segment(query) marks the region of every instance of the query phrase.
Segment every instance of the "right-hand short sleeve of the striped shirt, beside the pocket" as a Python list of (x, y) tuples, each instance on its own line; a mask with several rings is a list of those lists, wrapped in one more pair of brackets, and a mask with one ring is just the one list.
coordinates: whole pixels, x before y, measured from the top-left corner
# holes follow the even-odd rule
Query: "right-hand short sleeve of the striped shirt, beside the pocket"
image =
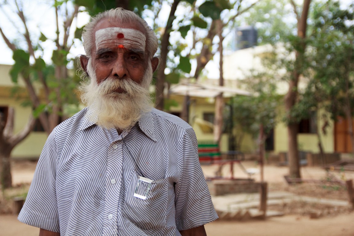
[(176, 183), (176, 225), (187, 230), (218, 218), (198, 158), (198, 143), (192, 128), (183, 137), (183, 166)]

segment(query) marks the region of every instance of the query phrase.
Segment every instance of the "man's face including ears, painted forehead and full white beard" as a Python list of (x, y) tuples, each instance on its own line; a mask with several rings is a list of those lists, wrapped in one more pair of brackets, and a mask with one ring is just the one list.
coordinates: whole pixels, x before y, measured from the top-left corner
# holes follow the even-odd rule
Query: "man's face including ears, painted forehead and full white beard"
[(151, 110), (148, 87), (159, 60), (147, 55), (143, 32), (139, 23), (103, 19), (94, 30), (90, 60), (80, 57), (90, 76), (79, 88), (81, 100), (99, 126), (124, 130)]

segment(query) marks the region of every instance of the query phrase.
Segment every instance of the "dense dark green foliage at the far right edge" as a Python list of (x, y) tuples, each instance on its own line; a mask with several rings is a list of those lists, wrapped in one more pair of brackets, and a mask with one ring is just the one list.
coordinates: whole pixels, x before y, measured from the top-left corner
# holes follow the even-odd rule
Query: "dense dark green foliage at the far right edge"
[[(330, 114), (326, 119), (346, 117), (354, 148), (353, 12), (354, 4), (343, 9), (338, 1), (317, 3), (314, 6), (309, 37), (309, 64), (313, 77), (299, 104), (306, 104), (308, 109), (324, 109)], [(326, 127), (322, 127), (324, 132)]]

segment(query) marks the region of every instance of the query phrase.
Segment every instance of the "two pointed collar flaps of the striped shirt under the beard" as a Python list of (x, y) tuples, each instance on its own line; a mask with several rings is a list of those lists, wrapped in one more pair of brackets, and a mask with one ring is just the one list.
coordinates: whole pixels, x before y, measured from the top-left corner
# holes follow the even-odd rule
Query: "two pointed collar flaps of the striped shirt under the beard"
[[(82, 123), (79, 127), (80, 131), (89, 128), (90, 126), (96, 125), (97, 116), (94, 116), (93, 119), (89, 119), (89, 116), (92, 115), (94, 111), (86, 107), (86, 113), (82, 118)], [(153, 115), (152, 111), (148, 111), (144, 113), (140, 119), (138, 120), (138, 126), (150, 139), (157, 142), (156, 134), (155, 134), (155, 119), (156, 117)]]

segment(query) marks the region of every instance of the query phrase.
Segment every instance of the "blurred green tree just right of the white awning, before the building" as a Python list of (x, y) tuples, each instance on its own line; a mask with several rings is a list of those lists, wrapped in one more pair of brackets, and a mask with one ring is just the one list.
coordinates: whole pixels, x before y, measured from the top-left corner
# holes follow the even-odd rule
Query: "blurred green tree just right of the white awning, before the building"
[[(272, 61), (271, 58), (268, 59)], [(268, 59), (263, 58), (263, 64), (267, 64)], [(269, 70), (268, 72), (252, 70), (250, 75), (241, 81), (253, 96), (238, 96), (230, 101), (234, 110), (233, 123), (237, 130), (234, 131), (238, 144), (236, 150), (240, 150), (245, 133), (256, 138), (260, 127), (263, 127), (266, 138), (275, 127), (282, 99), (277, 91), (278, 82), (278, 77), (272, 72), (269, 73)]]

